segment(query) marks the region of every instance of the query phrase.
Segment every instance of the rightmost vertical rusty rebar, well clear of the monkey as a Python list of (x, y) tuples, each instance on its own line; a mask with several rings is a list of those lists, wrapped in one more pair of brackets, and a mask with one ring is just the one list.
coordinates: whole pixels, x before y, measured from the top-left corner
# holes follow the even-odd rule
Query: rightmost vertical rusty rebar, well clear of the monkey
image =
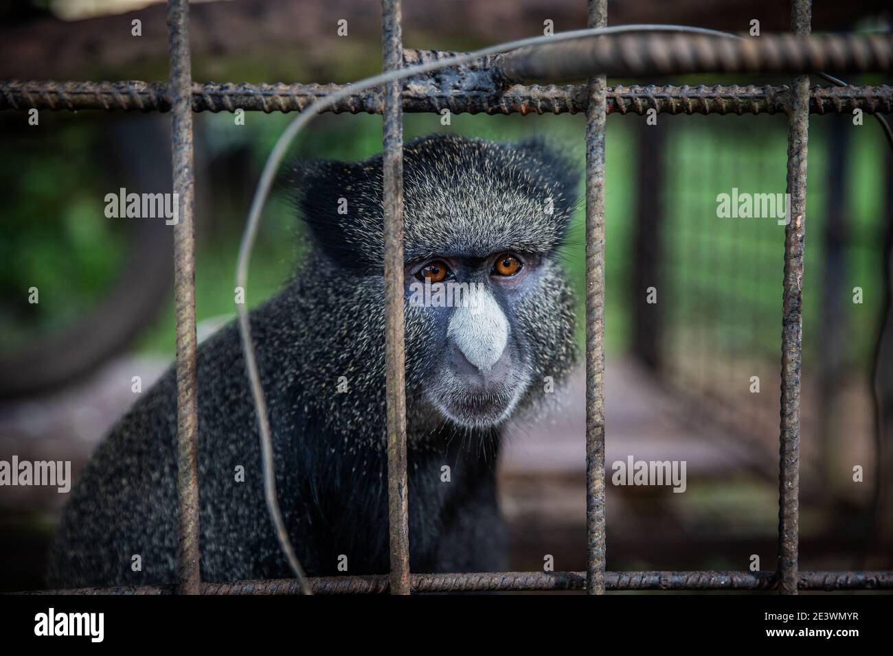
[[(791, 31), (808, 37), (810, 0), (793, 0)], [(779, 463), (779, 592), (797, 594), (800, 496), (800, 359), (803, 339), (803, 249), (806, 227), (806, 140), (809, 131), (809, 76), (790, 89), (788, 113), (788, 225), (784, 239), (784, 295), (781, 328), (781, 422)]]

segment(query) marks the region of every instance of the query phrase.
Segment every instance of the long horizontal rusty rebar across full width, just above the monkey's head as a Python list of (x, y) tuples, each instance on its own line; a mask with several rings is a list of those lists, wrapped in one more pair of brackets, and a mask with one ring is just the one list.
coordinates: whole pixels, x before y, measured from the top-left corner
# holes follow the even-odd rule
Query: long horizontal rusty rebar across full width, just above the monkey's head
[[(413, 56), (410, 56), (413, 54)], [(404, 61), (418, 63), (453, 53), (404, 51)], [(451, 76), (412, 78), (402, 92), (404, 112), (439, 113), (536, 113), (586, 112), (588, 87), (513, 85), (502, 87), (496, 69), (487, 62), (481, 68), (455, 67)], [(199, 84), (192, 85), (194, 112), (303, 112), (308, 104), (343, 89), (337, 84)], [(783, 113), (789, 107), (789, 87), (638, 86), (608, 87), (607, 113), (645, 114), (648, 109), (670, 114)], [(170, 112), (171, 96), (163, 82), (53, 82), (0, 81), (0, 111), (104, 110), (107, 112)], [(812, 87), (809, 111), (817, 114), (893, 113), (893, 87)], [(324, 112), (384, 112), (380, 93), (350, 95)]]

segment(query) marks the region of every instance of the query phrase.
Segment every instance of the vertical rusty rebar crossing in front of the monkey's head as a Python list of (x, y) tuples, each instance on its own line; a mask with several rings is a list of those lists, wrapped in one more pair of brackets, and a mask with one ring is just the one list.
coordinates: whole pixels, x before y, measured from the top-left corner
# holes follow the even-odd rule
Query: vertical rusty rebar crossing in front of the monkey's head
[[(403, 67), (400, 0), (381, 0), (384, 70)], [(385, 349), (388, 401), (388, 536), (391, 594), (409, 594), (409, 507), (406, 488), (406, 395), (403, 282), (403, 104), (402, 81), (385, 87), (382, 121)]]

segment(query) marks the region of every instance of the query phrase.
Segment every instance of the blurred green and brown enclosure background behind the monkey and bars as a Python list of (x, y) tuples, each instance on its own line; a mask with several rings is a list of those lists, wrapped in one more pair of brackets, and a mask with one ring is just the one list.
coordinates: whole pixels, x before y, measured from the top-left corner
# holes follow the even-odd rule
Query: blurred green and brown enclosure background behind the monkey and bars
[[(163, 4), (31, 0), (0, 4), (0, 79), (167, 79)], [(774, 2), (609, 3), (609, 23), (787, 30)], [(131, 21), (142, 21), (142, 37)], [(337, 37), (337, 21), (348, 37)], [(404, 0), (405, 47), (470, 50), (586, 24), (585, 0)], [(380, 70), (380, 6), (233, 0), (191, 10), (193, 79), (339, 82)], [(889, 4), (816, 2), (814, 31), (889, 29)], [(865, 76), (854, 84), (889, 80)], [(784, 84), (784, 79), (609, 79), (608, 84)], [(818, 83), (814, 79), (814, 83)], [(241, 230), (264, 159), (293, 115), (197, 113), (199, 339), (232, 319)], [(613, 114), (606, 134), (606, 465), (684, 460), (688, 489), (607, 490), (608, 569), (776, 567), (784, 228), (718, 219), (733, 187), (785, 191), (785, 115)], [(584, 162), (581, 115), (405, 115), (405, 139), (450, 131), (532, 135)], [(77, 472), (113, 421), (170, 366), (171, 230), (106, 219), (104, 195), (171, 188), (170, 116), (0, 112), (0, 460), (70, 460)], [(354, 160), (380, 151), (381, 119), (325, 114), (296, 145)], [(893, 569), (889, 145), (870, 116), (810, 117), (805, 251), (800, 569)], [(583, 187), (580, 185), (580, 193)], [(268, 205), (249, 278), (274, 294), (304, 237), (281, 192)], [(584, 342), (582, 206), (563, 251)], [(29, 288), (38, 287), (37, 304)], [(647, 303), (648, 287), (657, 303)], [(854, 287), (862, 303), (854, 303)], [(887, 326), (887, 332), (884, 327)], [(752, 392), (752, 377), (759, 392)], [(511, 569), (585, 569), (585, 383), (506, 433), (501, 504)], [(886, 463), (886, 464), (884, 464)], [(853, 468), (864, 480), (853, 480)], [(65, 501), (50, 487), (0, 487), (0, 591), (43, 585), (46, 544)]]

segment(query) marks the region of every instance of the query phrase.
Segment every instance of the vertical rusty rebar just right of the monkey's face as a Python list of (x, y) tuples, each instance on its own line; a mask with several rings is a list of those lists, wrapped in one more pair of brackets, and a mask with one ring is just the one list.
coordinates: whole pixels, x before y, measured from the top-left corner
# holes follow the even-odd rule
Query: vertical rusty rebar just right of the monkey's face
[[(607, 0), (589, 0), (588, 27), (607, 23)], [(605, 594), (605, 101), (588, 80), (586, 111), (586, 527), (588, 594)]]

